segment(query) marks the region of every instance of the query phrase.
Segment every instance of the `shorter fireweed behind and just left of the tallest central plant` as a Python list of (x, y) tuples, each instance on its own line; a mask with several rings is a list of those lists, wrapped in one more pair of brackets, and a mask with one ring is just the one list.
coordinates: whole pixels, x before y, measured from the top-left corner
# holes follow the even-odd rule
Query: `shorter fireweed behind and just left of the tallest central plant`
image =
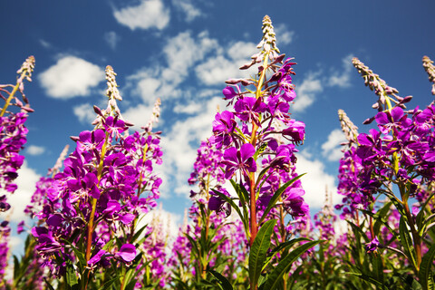
[[(220, 169), (223, 153), (208, 140), (201, 142), (198, 157), (190, 174), (189, 184), (198, 185), (190, 191), (193, 204), (189, 208), (190, 225), (185, 222), (172, 248), (169, 259), (173, 272), (173, 289), (216, 289), (209, 268), (228, 277), (232, 285), (247, 288), (244, 278), (247, 238), (240, 220), (227, 220), (225, 211), (208, 208), (211, 188), (222, 189), (224, 173)], [(215, 274), (216, 274), (215, 272)]]

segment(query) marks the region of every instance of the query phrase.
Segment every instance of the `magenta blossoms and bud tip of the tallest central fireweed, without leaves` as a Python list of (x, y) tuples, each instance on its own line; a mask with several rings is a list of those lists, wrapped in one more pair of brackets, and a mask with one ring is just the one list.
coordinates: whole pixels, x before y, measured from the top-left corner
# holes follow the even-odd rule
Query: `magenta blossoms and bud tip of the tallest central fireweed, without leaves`
[[(250, 195), (241, 202), (250, 208), (251, 244), (257, 231), (256, 211), (267, 207), (280, 181), (292, 177), (295, 144), (304, 141), (304, 123), (289, 115), (290, 102), (295, 100), (295, 63), (292, 59), (284, 61), (285, 54), (279, 54), (268, 16), (263, 20), (263, 34), (257, 46), (260, 52), (241, 67), (260, 63), (256, 77), (227, 81), (223, 94), (228, 106), (234, 105), (232, 110), (216, 114), (210, 139), (217, 149), (224, 150), (225, 179), (237, 179)], [(262, 163), (265, 169), (256, 177)], [(294, 216), (304, 215), (307, 206), (303, 194), (298, 189), (285, 189), (285, 210)]]

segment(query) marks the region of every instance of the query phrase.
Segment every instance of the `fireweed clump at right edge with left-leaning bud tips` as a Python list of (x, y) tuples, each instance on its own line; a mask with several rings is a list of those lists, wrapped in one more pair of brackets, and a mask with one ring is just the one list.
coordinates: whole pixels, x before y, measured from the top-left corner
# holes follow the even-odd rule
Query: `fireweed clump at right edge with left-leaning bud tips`
[[(429, 57), (423, 57), (430, 82), (434, 82), (431, 63)], [(395, 261), (392, 272), (400, 276), (402, 285), (432, 289), (435, 106), (432, 102), (423, 110), (405, 111), (404, 103), (410, 102), (411, 96), (398, 96), (396, 89), (358, 59), (353, 59), (353, 65), (378, 96), (372, 106), (377, 114), (364, 121), (376, 122), (377, 129), (369, 133), (358, 133), (339, 111), (348, 142), (340, 161), (338, 186), (345, 197), (336, 208), (342, 209), (342, 218), (347, 218), (356, 239), (362, 237), (366, 251), (372, 253), (372, 272), (361, 264), (353, 275), (377, 287), (388, 287), (393, 279), (388, 280), (382, 269)], [(392, 257), (385, 261), (378, 253)]]

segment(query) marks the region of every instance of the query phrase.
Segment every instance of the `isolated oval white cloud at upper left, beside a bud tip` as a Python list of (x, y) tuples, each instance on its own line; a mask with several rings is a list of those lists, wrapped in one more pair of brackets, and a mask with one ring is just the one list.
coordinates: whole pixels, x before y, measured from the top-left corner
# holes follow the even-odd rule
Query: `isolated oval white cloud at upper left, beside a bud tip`
[(72, 55), (63, 56), (39, 76), (47, 95), (57, 99), (89, 95), (103, 80), (101, 67)]

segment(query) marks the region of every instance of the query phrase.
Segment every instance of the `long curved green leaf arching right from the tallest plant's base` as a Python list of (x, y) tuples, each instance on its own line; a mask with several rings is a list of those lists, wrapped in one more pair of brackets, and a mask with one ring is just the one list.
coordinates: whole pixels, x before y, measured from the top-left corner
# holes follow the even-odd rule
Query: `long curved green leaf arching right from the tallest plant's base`
[(302, 254), (304, 254), (307, 250), (321, 242), (323, 241), (308, 242), (304, 245), (296, 247), (295, 250), (285, 256), (284, 259), (279, 261), (278, 266), (275, 267), (272, 273), (268, 275), (267, 280), (264, 284), (264, 289), (275, 290), (277, 285), (279, 285), (279, 282), (282, 279), (283, 275), (285, 275), (290, 270), (290, 266), (292, 266), (293, 262), (295, 262), (295, 260)]

